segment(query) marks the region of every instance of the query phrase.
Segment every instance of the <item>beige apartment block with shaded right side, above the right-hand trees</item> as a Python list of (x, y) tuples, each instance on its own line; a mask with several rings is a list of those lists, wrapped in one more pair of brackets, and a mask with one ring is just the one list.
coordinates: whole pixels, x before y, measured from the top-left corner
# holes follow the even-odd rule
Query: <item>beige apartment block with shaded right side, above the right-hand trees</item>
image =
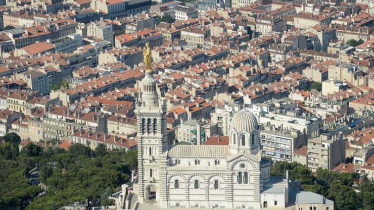
[(345, 141), (335, 136), (320, 135), (308, 139), (307, 167), (316, 172), (318, 168), (332, 170), (345, 162)]

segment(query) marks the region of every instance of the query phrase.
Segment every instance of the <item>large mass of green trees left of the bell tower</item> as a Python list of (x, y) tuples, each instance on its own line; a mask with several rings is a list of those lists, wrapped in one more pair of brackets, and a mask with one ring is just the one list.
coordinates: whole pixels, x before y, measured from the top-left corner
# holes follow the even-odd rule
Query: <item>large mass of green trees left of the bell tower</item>
[[(50, 210), (85, 199), (108, 204), (108, 195), (137, 167), (137, 151), (110, 151), (104, 145), (91, 150), (81, 144), (68, 151), (28, 144), (19, 151), (14, 136), (7, 135), (0, 144), (0, 209)], [(29, 172), (36, 169), (40, 185), (30, 181)], [(38, 196), (44, 189), (45, 194)]]

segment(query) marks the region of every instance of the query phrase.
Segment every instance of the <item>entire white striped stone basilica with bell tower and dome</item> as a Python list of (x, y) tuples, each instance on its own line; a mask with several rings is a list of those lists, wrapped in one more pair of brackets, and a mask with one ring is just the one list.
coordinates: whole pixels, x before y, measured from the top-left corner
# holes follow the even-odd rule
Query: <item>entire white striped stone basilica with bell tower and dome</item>
[[(167, 136), (165, 101), (157, 94), (152, 70), (147, 69), (142, 85), (135, 111), (139, 203), (230, 209), (285, 209), (296, 203), (290, 191), (296, 189), (299, 195), (298, 188), (288, 173), (270, 176), (271, 163), (262, 158), (254, 114), (243, 109), (232, 118), (228, 145), (175, 145)], [(296, 193), (293, 197), (302, 200)], [(321, 209), (329, 209), (318, 196)], [(305, 209), (315, 207), (308, 198), (305, 202)]]

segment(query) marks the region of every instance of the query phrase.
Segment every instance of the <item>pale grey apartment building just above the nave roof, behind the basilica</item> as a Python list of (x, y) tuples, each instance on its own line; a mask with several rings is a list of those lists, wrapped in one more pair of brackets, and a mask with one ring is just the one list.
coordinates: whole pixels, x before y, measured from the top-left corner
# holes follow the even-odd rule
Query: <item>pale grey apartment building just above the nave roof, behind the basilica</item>
[(218, 134), (215, 123), (204, 123), (198, 120), (181, 121), (177, 126), (178, 142), (184, 141), (191, 144), (202, 145), (213, 134)]

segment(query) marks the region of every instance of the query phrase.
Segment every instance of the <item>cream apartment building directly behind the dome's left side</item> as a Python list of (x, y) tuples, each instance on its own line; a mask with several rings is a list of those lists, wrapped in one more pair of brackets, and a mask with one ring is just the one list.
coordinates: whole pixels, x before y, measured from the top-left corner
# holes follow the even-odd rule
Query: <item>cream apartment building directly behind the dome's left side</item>
[(224, 104), (222, 107), (216, 107), (210, 113), (212, 123), (218, 125), (218, 134), (228, 136), (231, 128), (232, 117), (241, 110), (242, 106), (237, 104)]

